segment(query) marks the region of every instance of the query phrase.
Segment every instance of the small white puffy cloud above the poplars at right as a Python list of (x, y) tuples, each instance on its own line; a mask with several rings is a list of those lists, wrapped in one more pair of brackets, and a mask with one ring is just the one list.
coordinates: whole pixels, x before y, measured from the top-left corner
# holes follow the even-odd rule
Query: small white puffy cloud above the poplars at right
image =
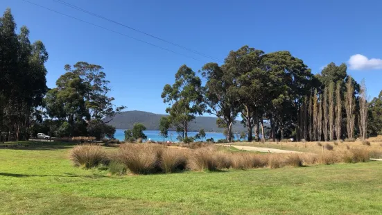
[(349, 69), (382, 69), (382, 60), (377, 58), (368, 59), (365, 55), (352, 55), (349, 59)]

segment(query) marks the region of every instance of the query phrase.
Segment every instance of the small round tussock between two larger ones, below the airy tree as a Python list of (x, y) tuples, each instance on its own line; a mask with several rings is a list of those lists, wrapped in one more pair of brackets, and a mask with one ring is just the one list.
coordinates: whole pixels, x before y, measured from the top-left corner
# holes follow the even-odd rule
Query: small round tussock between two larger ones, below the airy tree
[(187, 159), (182, 150), (167, 148), (162, 153), (160, 164), (165, 173), (175, 173), (186, 169)]

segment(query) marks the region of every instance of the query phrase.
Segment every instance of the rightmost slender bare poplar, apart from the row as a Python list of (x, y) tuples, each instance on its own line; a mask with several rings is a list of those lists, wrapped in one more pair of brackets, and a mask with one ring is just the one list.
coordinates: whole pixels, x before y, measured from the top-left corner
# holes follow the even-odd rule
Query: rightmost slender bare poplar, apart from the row
[(359, 95), (359, 130), (361, 139), (366, 139), (367, 135), (367, 89), (365, 79), (361, 81), (361, 90)]

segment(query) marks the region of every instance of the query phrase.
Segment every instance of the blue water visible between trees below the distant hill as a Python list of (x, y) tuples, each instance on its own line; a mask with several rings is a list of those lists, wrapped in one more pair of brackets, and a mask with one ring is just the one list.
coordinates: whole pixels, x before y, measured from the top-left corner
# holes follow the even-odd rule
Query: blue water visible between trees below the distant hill
[[(119, 140), (125, 139), (125, 133), (124, 129), (116, 129), (114, 137)], [(187, 134), (189, 137), (194, 137), (198, 132), (188, 132)], [(144, 134), (147, 136), (147, 139), (153, 140), (153, 141), (163, 141), (163, 137), (159, 135), (159, 130), (145, 130)], [(175, 131), (168, 131), (168, 138), (164, 139), (165, 141), (177, 141), (177, 132)], [(206, 132), (206, 137), (204, 140), (209, 138), (214, 138), (214, 141), (217, 141), (218, 139), (225, 139), (225, 136), (222, 133), (211, 133)]]

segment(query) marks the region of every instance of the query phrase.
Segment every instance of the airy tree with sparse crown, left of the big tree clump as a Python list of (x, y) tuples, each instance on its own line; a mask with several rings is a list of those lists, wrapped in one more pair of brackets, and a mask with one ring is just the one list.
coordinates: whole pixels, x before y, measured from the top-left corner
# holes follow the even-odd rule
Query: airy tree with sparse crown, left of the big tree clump
[(162, 92), (164, 103), (169, 105), (166, 112), (183, 141), (189, 141), (189, 122), (205, 110), (201, 85), (202, 81), (195, 72), (182, 65), (175, 74), (175, 83), (165, 85)]

